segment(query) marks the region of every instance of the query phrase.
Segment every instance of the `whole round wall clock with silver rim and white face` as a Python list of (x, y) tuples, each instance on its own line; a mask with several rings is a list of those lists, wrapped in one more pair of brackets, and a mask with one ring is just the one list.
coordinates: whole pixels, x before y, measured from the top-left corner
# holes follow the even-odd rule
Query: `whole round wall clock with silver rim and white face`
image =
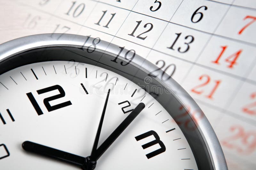
[(2, 44), (0, 101), (3, 169), (227, 169), (210, 123), (171, 75), (100, 38)]

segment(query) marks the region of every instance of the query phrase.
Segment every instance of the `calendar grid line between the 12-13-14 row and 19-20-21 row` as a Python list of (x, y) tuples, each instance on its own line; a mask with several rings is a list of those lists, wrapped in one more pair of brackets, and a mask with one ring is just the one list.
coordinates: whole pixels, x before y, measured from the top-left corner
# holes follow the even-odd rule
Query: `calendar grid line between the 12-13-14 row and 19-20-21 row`
[[(38, 11), (41, 11), (41, 10), (38, 10)], [(80, 25), (80, 26), (83, 26), (83, 27), (86, 27), (86, 28), (89, 28), (89, 29), (92, 29), (92, 30), (95, 30), (95, 31), (99, 31), (99, 32), (108, 34), (108, 35), (110, 35), (110, 36), (114, 36), (114, 35), (109, 34), (109, 33), (107, 33), (107, 32), (103, 32), (103, 31), (100, 31), (100, 30), (97, 30), (97, 29), (94, 29), (94, 28), (91, 28), (91, 27), (88, 27), (88, 26), (85, 26), (85, 25), (76, 23), (76, 22), (74, 22), (74, 21), (71, 21), (71, 20), (68, 20), (68, 19), (65, 19), (65, 18), (56, 16), (56, 15), (51, 14), (51, 13), (46, 12), (46, 11), (41, 11), (41, 12), (47, 13), (47, 14), (49, 14), (49, 15), (53, 15), (53, 16), (56, 17), (56, 18), (59, 18), (59, 19), (62, 19), (62, 20), (71, 22), (71, 23), (76, 24), (76, 25)], [(123, 40), (128, 41), (128, 42), (131, 42), (131, 43), (134, 43), (134, 44), (136, 44), (136, 45), (139, 45), (139, 46), (142, 46), (142, 47), (151, 49), (151, 48), (148, 47), (148, 46), (144, 46), (144, 45), (141, 45), (141, 44), (139, 44), (139, 43), (135, 43), (135, 42), (133, 42), (133, 41), (130, 41), (130, 40), (127, 40), (127, 39), (124, 39), (124, 38), (121, 38), (121, 37), (117, 37), (117, 36), (115, 36), (115, 37), (116, 37), (116, 38), (119, 38), (119, 39), (123, 39)], [(207, 69), (210, 69), (210, 70), (212, 70), (212, 71), (216, 71), (216, 72), (219, 72), (219, 73), (222, 73), (222, 74), (226, 74), (226, 75), (231, 76), (231, 77), (233, 77), (233, 78), (236, 78), (236, 79), (238, 79), (238, 80), (246, 81), (246, 82), (248, 82), (248, 83), (250, 83), (250, 84), (256, 85), (256, 81), (254, 81), (254, 80), (251, 80), (251, 79), (248, 79), (248, 78), (245, 78), (245, 77), (242, 77), (242, 76), (238, 76), (238, 75), (235, 75), (235, 74), (232, 74), (232, 73), (228, 73), (228, 72), (225, 72), (225, 71), (221, 71), (221, 70), (218, 70), (218, 69), (209, 67), (209, 66), (205, 66), (205, 65), (203, 65), (203, 64), (195, 63), (195, 62), (190, 61), (190, 60), (182, 59), (182, 58), (180, 58), (180, 57), (177, 57), (177, 56), (174, 56), (174, 55), (171, 55), (171, 54), (168, 54), (168, 53), (164, 53), (164, 52), (161, 52), (161, 51), (156, 50), (156, 49), (152, 49), (152, 50), (154, 50), (154, 51), (156, 51), (156, 52), (159, 52), (159, 53), (163, 53), (163, 54), (168, 55), (168, 56), (170, 56), (170, 57), (173, 57), (173, 58), (175, 58), (175, 59), (182, 60), (182, 61), (188, 62), (188, 63), (190, 63), (190, 64), (194, 64), (194, 65), (199, 66), (199, 67), (204, 67), (204, 68), (207, 68)]]

